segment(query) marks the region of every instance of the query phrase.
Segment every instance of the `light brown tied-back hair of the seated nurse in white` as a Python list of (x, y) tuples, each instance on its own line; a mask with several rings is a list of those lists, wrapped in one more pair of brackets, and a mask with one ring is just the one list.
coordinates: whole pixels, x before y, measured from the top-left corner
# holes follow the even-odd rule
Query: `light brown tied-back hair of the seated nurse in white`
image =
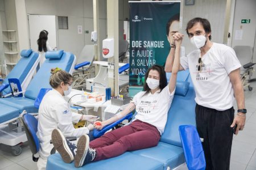
[(59, 68), (51, 69), (51, 74), (52, 75), (49, 79), (49, 84), (52, 88), (57, 88), (58, 86), (60, 86), (61, 82), (64, 82), (64, 84), (68, 84), (68, 82), (72, 79), (71, 74)]

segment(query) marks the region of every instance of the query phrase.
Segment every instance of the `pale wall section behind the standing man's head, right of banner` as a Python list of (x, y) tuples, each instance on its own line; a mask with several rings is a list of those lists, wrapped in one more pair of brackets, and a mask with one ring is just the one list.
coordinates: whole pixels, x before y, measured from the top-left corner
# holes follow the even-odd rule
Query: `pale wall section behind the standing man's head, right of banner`
[[(252, 0), (254, 1), (254, 0)], [(200, 17), (206, 18), (210, 22), (212, 28), (212, 41), (223, 43), (224, 26), (225, 26), (225, 10), (226, 0), (205, 0), (195, 1), (195, 5), (183, 6), (183, 23), (182, 31), (184, 33), (183, 45), (185, 46), (185, 53), (188, 54), (193, 49), (185, 28), (189, 20)]]

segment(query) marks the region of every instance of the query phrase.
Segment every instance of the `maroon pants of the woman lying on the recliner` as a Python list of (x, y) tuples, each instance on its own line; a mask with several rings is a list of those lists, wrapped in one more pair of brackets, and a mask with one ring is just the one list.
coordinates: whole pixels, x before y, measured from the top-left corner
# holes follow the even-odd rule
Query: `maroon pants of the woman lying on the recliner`
[(96, 150), (93, 161), (113, 158), (126, 151), (141, 150), (158, 145), (160, 134), (155, 126), (136, 120), (130, 125), (110, 131), (90, 142)]

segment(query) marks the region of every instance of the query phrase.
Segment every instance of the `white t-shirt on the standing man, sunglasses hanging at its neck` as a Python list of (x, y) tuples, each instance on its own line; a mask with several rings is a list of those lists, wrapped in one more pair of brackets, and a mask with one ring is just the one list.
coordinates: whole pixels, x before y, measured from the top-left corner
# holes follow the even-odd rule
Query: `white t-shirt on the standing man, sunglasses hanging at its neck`
[(236, 53), (223, 44), (213, 43), (201, 58), (201, 72), (197, 71), (200, 50), (180, 58), (184, 70), (189, 69), (196, 91), (196, 103), (207, 108), (224, 111), (233, 106), (234, 91), (229, 73), (241, 67)]

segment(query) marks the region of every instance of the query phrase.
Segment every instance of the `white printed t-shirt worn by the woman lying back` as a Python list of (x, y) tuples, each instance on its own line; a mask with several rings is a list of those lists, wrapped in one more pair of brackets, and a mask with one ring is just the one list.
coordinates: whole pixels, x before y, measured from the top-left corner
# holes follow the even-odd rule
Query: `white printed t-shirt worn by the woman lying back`
[(167, 113), (174, 98), (175, 90), (170, 93), (169, 86), (160, 89), (154, 94), (151, 92), (141, 91), (133, 97), (132, 103), (136, 105), (135, 120), (140, 120), (155, 126), (160, 135), (164, 131), (167, 121)]

